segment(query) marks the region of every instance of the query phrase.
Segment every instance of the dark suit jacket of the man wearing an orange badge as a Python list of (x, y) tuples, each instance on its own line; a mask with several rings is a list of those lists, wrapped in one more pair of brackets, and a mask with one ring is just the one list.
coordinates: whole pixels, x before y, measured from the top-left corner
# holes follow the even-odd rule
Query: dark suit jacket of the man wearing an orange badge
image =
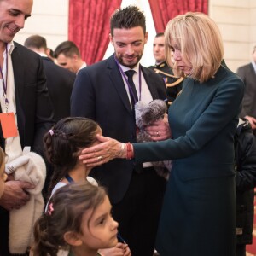
[[(44, 155), (42, 138), (53, 125), (53, 111), (46, 87), (43, 63), (38, 54), (17, 43), (11, 56), (21, 148), (31, 146), (32, 151)], [(4, 148), (2, 129), (0, 141)]]

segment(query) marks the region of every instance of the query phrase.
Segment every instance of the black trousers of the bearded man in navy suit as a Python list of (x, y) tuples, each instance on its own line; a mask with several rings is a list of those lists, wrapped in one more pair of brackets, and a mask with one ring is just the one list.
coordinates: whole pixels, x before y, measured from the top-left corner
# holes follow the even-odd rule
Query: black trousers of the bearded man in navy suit
[(143, 173), (133, 172), (124, 199), (113, 205), (113, 218), (132, 256), (153, 255), (165, 190), (166, 180), (153, 167), (144, 168)]

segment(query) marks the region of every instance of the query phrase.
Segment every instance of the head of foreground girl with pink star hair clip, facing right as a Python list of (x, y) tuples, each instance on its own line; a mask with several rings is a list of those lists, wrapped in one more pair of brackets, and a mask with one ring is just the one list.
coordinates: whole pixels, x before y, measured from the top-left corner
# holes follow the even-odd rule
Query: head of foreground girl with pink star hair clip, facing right
[(117, 244), (117, 228), (105, 189), (88, 182), (70, 183), (57, 189), (38, 218), (32, 255), (101, 255), (99, 248)]

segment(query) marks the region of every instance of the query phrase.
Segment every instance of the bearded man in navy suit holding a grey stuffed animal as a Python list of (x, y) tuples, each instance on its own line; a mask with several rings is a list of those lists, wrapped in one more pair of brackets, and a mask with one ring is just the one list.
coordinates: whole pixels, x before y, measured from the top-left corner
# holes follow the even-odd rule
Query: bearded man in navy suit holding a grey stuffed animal
[[(148, 40), (143, 13), (134, 6), (118, 9), (110, 26), (114, 54), (79, 72), (71, 96), (71, 115), (94, 119), (104, 136), (132, 143), (137, 134), (134, 102), (165, 100), (166, 86), (160, 76), (139, 64)], [(134, 73), (132, 79), (127, 72)], [(164, 120), (152, 129), (155, 140), (170, 137)], [(113, 218), (119, 222), (119, 232), (131, 254), (152, 256), (166, 180), (150, 163), (135, 166), (131, 160), (110, 161), (90, 175), (108, 188)]]

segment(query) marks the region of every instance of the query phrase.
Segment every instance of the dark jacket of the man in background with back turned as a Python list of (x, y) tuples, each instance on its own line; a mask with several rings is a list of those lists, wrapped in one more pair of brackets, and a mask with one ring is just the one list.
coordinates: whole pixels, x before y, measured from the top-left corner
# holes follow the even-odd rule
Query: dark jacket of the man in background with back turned
[(54, 119), (57, 122), (70, 115), (70, 96), (76, 75), (59, 67), (47, 57), (42, 57), (42, 59), (49, 97), (53, 103)]

